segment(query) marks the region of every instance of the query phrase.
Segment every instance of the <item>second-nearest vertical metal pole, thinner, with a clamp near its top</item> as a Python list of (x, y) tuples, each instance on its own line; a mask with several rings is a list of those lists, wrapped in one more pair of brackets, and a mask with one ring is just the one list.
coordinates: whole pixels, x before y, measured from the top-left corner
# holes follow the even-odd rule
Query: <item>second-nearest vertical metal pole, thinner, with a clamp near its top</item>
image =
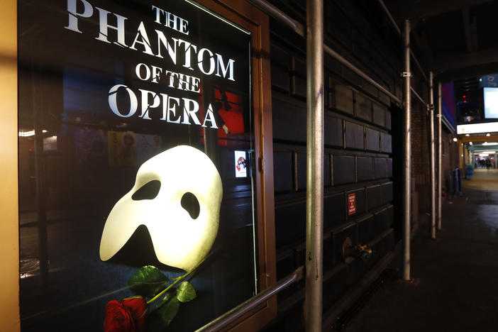
[(411, 96), (410, 96), (410, 21), (404, 20), (404, 223), (403, 223), (403, 280), (410, 280), (410, 217), (411, 217)]

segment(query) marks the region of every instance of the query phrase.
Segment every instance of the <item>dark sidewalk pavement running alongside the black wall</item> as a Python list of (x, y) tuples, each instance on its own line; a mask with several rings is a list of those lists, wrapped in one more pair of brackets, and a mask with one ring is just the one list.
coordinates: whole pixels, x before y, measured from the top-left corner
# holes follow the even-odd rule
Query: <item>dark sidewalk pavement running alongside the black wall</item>
[(498, 170), (475, 170), (442, 209), (437, 240), (423, 218), (412, 241), (416, 282), (384, 279), (343, 331), (498, 331)]

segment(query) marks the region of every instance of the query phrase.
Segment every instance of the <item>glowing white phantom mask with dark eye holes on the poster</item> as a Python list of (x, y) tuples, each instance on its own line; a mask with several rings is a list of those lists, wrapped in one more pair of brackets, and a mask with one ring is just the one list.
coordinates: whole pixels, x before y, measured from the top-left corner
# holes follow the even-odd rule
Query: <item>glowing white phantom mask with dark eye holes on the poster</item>
[[(154, 199), (133, 200), (150, 181), (161, 183)], [(199, 201), (199, 216), (182, 207), (182, 197), (192, 193)], [(165, 265), (190, 271), (203, 260), (216, 238), (223, 187), (207, 155), (179, 145), (155, 155), (140, 166), (135, 185), (114, 205), (100, 241), (100, 258), (109, 260), (140, 225), (150, 233), (157, 259)]]

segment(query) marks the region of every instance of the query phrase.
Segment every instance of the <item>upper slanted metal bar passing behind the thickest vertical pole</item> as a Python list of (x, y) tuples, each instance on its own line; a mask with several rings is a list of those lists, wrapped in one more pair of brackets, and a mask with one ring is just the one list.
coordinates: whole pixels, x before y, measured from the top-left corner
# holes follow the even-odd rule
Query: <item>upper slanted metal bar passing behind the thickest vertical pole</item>
[[(304, 27), (301, 25), (301, 23), (294, 21), (294, 19), (290, 18), (287, 16), (286, 13), (283, 11), (280, 11), (280, 9), (277, 9), (277, 7), (273, 6), (272, 4), (269, 4), (265, 0), (249, 0), (251, 3), (255, 4), (258, 6), (262, 11), (265, 11), (268, 15), (272, 16), (273, 18), (277, 19), (277, 21), (280, 21), (284, 24), (287, 24), (289, 28), (292, 28), (298, 35), (301, 35), (301, 37), (305, 37), (304, 34)], [(345, 60), (345, 58), (340, 55), (338, 52), (332, 50), (328, 45), (323, 45), (323, 50), (325, 50), (328, 55), (331, 55), (333, 58), (341, 62), (343, 65), (348, 67), (350, 70), (353, 70), (356, 74), (358, 74), (360, 77), (363, 77), (367, 82), (370, 84), (374, 85), (377, 87), (377, 89), (380, 89), (384, 94), (387, 94), (391, 99), (396, 101), (398, 104), (401, 104), (402, 101), (397, 97), (394, 96), (389, 90), (386, 88), (382, 87), (379, 83), (375, 82), (372, 78), (370, 78), (367, 74), (359, 70), (355, 65), (353, 65), (351, 62), (348, 60)]]

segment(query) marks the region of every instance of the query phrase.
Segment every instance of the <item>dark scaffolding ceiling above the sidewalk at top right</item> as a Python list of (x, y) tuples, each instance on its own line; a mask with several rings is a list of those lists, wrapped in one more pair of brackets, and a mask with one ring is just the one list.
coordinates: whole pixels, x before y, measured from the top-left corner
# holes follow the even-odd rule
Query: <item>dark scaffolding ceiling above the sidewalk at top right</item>
[(498, 1), (385, 0), (394, 19), (411, 21), (421, 65), (452, 81), (498, 72)]

